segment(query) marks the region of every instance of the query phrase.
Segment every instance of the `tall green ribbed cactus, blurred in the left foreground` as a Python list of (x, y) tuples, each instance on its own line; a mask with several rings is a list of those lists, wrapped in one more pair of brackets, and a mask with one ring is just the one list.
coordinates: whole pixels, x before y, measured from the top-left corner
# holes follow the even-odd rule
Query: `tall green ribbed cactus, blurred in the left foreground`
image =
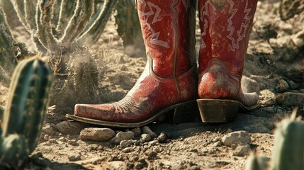
[(17, 169), (37, 146), (51, 84), (50, 69), (40, 57), (17, 65), (0, 129), (1, 169)]

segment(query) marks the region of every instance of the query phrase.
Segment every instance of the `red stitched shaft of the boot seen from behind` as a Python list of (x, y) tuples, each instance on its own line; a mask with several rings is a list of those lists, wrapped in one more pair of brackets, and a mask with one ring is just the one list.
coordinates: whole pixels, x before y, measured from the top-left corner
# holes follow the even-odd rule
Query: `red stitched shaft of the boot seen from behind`
[(199, 74), (206, 71), (208, 62), (216, 59), (241, 77), (256, 8), (257, 0), (198, 1), (201, 26)]

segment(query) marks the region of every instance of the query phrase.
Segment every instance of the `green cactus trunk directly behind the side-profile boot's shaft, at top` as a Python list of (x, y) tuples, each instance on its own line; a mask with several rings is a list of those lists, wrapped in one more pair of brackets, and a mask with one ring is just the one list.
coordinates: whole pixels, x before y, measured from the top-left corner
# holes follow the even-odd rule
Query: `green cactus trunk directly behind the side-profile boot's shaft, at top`
[(142, 32), (134, 0), (120, 0), (114, 7), (117, 33), (123, 45), (143, 45)]

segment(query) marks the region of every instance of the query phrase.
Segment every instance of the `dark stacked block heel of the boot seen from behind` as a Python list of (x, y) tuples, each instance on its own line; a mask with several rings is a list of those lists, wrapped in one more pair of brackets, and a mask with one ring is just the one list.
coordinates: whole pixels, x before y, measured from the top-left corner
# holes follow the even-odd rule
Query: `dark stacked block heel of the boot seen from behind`
[(227, 99), (203, 98), (197, 104), (203, 123), (226, 123), (239, 111), (239, 102)]

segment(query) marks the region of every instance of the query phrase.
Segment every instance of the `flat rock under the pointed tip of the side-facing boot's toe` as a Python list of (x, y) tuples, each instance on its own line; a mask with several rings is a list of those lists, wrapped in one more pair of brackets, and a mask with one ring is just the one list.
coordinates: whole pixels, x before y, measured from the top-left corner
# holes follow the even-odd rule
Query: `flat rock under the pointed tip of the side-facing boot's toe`
[(86, 123), (63, 121), (61, 123), (57, 123), (55, 128), (64, 135), (79, 135), (81, 130), (89, 128), (89, 126), (90, 125)]

